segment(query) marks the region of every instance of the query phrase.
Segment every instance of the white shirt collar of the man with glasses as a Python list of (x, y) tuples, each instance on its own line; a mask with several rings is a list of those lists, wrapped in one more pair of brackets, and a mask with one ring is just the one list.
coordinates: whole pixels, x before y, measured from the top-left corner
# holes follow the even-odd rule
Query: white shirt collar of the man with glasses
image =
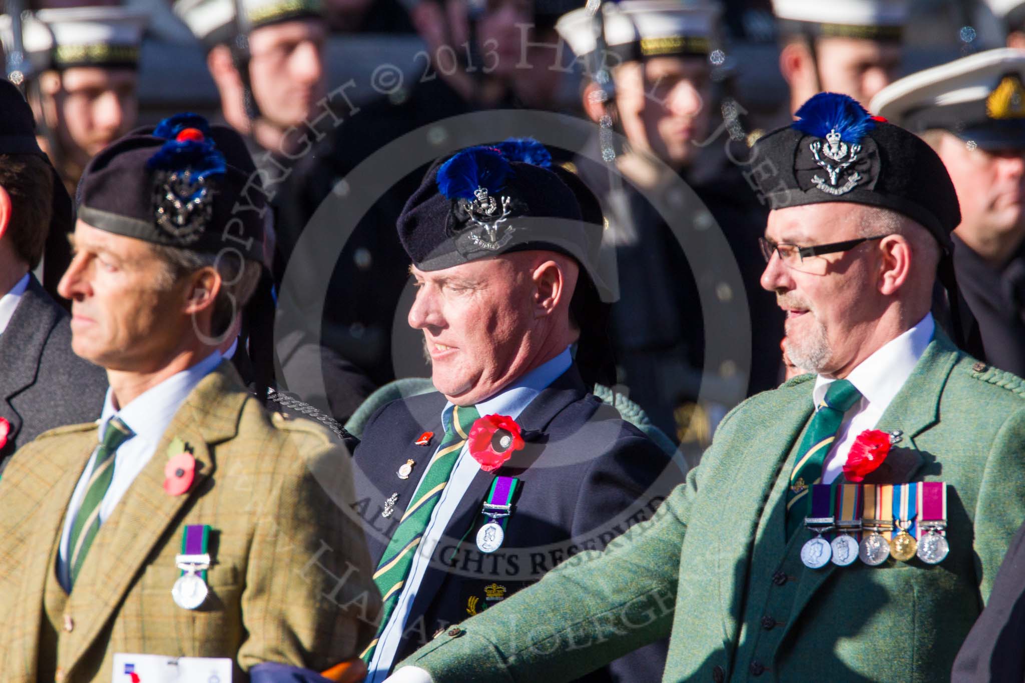
[[(847, 379), (861, 392), (869, 403), (886, 407), (890, 404), (904, 382), (911, 376), (918, 358), (926, 352), (926, 347), (933, 340), (936, 323), (932, 313), (918, 321), (910, 330), (883, 345), (870, 356), (851, 371)], [(814, 405), (819, 405), (825, 398), (826, 390), (835, 380), (819, 375), (812, 391)]]

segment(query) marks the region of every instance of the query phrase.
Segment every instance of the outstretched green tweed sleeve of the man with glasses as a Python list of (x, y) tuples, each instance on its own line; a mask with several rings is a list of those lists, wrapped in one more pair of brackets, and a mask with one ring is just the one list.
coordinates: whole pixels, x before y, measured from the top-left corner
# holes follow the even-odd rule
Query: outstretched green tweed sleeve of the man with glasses
[(435, 681), (568, 681), (668, 635), (680, 549), (698, 470), (652, 519), (604, 552), (573, 556), (535, 586), (439, 636), (401, 663)]

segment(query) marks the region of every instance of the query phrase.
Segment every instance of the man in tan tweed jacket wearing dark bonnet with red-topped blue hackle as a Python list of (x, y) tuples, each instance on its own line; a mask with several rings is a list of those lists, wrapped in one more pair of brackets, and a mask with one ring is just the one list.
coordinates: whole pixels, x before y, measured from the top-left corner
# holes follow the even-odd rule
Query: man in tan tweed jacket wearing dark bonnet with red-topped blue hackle
[[(106, 683), (124, 675), (117, 653), (227, 657), (236, 681), (264, 663), (322, 671), (373, 634), (347, 455), (270, 415), (215, 350), (227, 297), (255, 287), (263, 222), (238, 214), (244, 259), (217, 258), (248, 177), (211, 139), (205, 120), (174, 117), (86, 171), (60, 292), (75, 352), (111, 390), (98, 425), (43, 434), (0, 480), (5, 683)], [(160, 201), (175, 196), (189, 202)], [(183, 552), (208, 567), (172, 597)]]

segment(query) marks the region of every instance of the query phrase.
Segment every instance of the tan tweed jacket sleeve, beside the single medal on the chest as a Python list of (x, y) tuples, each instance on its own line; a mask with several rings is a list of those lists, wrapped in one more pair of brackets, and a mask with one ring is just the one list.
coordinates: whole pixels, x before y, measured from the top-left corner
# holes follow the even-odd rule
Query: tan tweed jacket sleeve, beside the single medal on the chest
[[(308, 427), (305, 429), (313, 429)], [(354, 503), (351, 459), (323, 432), (289, 434), (260, 507), (242, 594), (243, 670), (279, 663), (326, 670), (360, 654), (380, 596)], [(255, 465), (254, 465), (255, 466)]]

